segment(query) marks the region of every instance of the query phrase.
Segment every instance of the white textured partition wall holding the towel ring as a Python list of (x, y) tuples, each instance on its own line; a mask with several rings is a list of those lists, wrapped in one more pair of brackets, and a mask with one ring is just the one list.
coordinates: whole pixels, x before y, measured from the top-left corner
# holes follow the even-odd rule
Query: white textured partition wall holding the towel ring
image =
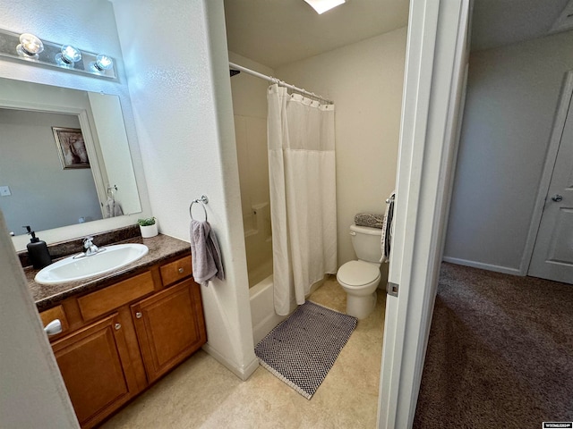
[[(201, 287), (208, 350), (244, 376), (253, 352), (222, 0), (117, 0), (133, 111), (161, 232), (189, 240), (189, 205), (210, 198), (227, 279)], [(187, 40), (185, 49), (174, 40)], [(202, 219), (201, 209), (193, 213)]]

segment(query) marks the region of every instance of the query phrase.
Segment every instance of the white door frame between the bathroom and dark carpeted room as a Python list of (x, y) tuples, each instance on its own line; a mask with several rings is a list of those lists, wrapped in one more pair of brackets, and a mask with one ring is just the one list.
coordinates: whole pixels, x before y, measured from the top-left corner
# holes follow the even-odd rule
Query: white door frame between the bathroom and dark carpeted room
[(422, 381), (464, 104), (470, 0), (411, 0), (379, 428), (411, 427)]

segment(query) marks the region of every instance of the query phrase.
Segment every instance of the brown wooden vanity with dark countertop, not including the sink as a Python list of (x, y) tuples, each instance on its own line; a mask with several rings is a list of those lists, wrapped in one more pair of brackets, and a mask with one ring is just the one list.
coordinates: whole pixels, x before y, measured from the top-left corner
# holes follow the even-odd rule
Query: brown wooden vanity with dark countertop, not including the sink
[(49, 340), (81, 427), (98, 425), (207, 341), (189, 244), (164, 235), (124, 242), (149, 253), (96, 279), (40, 285), (25, 270), (44, 326), (62, 324)]

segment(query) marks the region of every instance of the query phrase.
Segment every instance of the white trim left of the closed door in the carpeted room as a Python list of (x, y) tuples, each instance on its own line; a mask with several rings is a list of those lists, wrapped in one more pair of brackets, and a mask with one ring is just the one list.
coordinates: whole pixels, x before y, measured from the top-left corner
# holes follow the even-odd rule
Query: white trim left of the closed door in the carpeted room
[(552, 181), (553, 169), (557, 162), (557, 154), (559, 152), (561, 137), (565, 122), (567, 121), (567, 114), (569, 112), (569, 104), (573, 97), (573, 71), (565, 73), (563, 84), (561, 85), (561, 92), (559, 101), (557, 102), (557, 110), (555, 112), (555, 119), (553, 120), (552, 134), (549, 139), (549, 146), (547, 147), (547, 154), (545, 156), (545, 164), (543, 164), (543, 173), (539, 188), (537, 189), (537, 196), (535, 198), (534, 211), (531, 216), (531, 223), (529, 223), (529, 231), (527, 233), (526, 248), (521, 257), (519, 264), (519, 275), (527, 275), (529, 272), (529, 265), (534, 256), (535, 240), (537, 240), (537, 233), (541, 227), (541, 219), (543, 216), (543, 209), (545, 207), (545, 199), (549, 192), (549, 187)]

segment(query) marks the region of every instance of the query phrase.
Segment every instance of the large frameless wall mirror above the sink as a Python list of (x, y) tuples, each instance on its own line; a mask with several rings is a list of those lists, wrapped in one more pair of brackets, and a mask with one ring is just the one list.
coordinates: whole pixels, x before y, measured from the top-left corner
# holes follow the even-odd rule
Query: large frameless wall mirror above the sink
[(0, 209), (14, 235), (140, 213), (119, 97), (0, 79)]

